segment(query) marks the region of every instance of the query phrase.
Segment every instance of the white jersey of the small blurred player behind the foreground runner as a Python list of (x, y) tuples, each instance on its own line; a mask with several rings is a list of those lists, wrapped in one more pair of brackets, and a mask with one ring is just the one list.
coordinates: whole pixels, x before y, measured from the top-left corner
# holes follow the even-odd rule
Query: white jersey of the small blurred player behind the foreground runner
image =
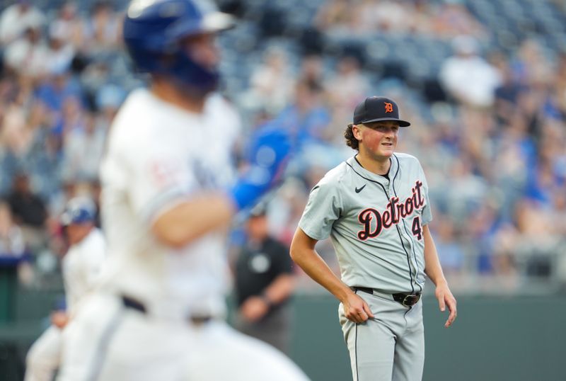
[(76, 313), (81, 298), (96, 287), (105, 256), (104, 236), (95, 227), (80, 242), (72, 245), (63, 257), (63, 280), (69, 315)]

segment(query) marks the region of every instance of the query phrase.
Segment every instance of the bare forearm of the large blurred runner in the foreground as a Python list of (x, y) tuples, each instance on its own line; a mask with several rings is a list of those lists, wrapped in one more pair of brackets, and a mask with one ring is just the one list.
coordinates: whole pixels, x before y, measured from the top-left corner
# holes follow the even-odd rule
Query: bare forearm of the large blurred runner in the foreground
[(164, 244), (180, 248), (214, 229), (226, 227), (235, 212), (224, 194), (196, 195), (159, 215), (152, 232)]

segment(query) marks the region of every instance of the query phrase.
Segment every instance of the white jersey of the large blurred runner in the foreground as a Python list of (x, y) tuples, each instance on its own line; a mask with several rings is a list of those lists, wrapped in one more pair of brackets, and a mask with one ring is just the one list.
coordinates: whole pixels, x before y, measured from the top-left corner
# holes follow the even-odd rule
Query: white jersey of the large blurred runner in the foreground
[(237, 114), (220, 96), (210, 96), (199, 114), (146, 89), (129, 95), (101, 167), (109, 248), (103, 288), (136, 298), (153, 314), (224, 313), (225, 234), (210, 232), (173, 249), (151, 234), (151, 224), (193, 193), (229, 186), (239, 129)]

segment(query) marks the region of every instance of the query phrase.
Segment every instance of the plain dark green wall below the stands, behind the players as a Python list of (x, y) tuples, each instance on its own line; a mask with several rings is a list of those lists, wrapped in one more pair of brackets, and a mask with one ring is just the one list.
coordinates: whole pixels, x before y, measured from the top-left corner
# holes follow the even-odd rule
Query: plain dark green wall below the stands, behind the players
[[(0, 324), (0, 380), (19, 381), (25, 349), (40, 333), (51, 292), (20, 292), (16, 322)], [(291, 357), (313, 381), (351, 380), (350, 362), (337, 319), (337, 302), (324, 295), (294, 297)], [(429, 381), (566, 380), (566, 295), (458, 297), (458, 319), (424, 298)]]

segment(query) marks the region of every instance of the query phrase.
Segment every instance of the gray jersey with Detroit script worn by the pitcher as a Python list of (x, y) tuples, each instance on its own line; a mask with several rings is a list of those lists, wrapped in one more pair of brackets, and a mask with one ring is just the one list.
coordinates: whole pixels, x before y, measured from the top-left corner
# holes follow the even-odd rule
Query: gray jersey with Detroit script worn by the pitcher
[(332, 239), (342, 281), (386, 292), (414, 293), (424, 285), (422, 226), (432, 220), (419, 161), (394, 154), (388, 176), (355, 157), (312, 189), (299, 227), (313, 239)]

